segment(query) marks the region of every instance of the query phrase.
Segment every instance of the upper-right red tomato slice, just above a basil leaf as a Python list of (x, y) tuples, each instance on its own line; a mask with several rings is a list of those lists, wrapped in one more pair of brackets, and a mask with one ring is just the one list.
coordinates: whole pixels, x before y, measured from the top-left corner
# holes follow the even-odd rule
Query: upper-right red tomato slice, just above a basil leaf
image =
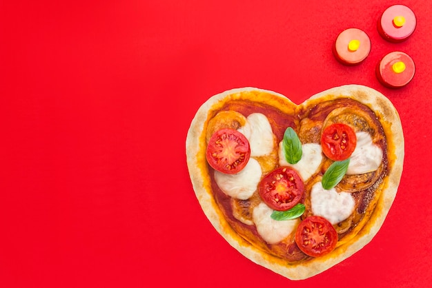
[(347, 159), (353, 154), (355, 145), (357, 145), (355, 132), (346, 124), (332, 124), (321, 134), (322, 152), (333, 161)]

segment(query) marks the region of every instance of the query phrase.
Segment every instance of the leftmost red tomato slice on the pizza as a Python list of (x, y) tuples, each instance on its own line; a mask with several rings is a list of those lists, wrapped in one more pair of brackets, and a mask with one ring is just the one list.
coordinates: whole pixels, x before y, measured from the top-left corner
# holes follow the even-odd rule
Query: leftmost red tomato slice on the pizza
[(251, 146), (248, 139), (237, 130), (217, 130), (208, 141), (206, 157), (213, 169), (226, 174), (236, 174), (248, 163)]

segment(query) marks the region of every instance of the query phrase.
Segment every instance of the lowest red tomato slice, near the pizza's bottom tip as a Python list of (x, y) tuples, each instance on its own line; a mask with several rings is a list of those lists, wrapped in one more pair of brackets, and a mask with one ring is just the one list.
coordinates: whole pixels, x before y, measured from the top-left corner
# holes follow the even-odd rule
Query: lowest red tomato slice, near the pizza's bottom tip
[(323, 256), (335, 249), (337, 232), (326, 218), (308, 216), (297, 227), (295, 243), (308, 256)]

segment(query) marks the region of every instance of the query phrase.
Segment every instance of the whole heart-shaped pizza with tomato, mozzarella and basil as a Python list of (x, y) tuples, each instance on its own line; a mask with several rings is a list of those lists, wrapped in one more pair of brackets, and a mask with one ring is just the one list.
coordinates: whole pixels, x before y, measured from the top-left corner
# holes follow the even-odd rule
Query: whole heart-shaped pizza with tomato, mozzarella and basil
[(366, 86), (300, 105), (239, 88), (199, 107), (186, 156), (217, 232), (253, 262), (300, 280), (377, 234), (400, 183), (404, 136), (391, 101)]

